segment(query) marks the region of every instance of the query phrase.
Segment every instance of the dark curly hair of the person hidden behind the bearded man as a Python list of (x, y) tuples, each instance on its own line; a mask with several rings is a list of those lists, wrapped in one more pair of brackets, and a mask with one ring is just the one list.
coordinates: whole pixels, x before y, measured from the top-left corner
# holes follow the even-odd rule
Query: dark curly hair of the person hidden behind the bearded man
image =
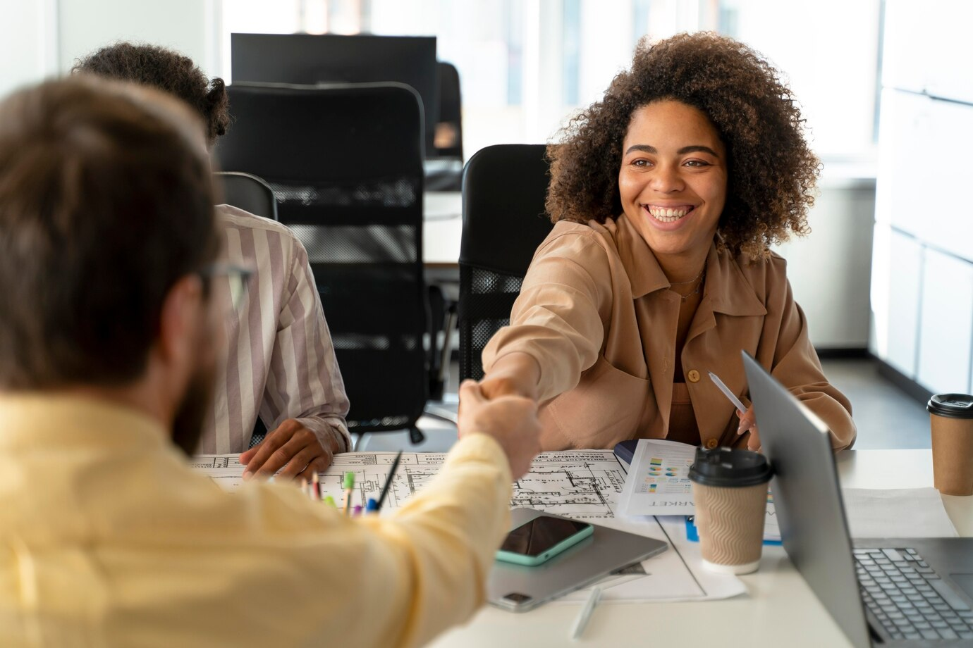
[(210, 147), (230, 127), (226, 84), (218, 77), (206, 79), (193, 59), (177, 51), (154, 45), (116, 43), (77, 61), (71, 73), (149, 85), (175, 95), (202, 118), (206, 144)]

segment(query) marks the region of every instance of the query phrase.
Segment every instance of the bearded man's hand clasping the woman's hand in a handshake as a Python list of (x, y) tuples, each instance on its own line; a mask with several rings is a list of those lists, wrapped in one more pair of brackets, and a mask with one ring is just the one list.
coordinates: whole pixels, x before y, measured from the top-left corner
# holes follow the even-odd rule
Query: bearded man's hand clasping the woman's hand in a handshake
[(459, 386), (459, 437), (475, 432), (492, 436), (510, 462), (514, 479), (530, 468), (530, 461), (541, 451), (541, 425), (537, 403), (524, 396), (496, 396), (487, 399), (474, 380)]

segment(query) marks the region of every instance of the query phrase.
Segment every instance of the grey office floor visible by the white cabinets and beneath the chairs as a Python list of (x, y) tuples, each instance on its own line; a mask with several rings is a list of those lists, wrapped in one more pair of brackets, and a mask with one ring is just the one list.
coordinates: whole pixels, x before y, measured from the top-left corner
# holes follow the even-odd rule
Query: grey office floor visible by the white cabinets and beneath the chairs
[[(929, 447), (929, 415), (925, 406), (880, 376), (875, 363), (867, 358), (826, 359), (822, 361), (824, 373), (835, 387), (851, 401), (858, 439), (854, 447), (859, 449), (912, 449)], [(455, 411), (456, 377), (459, 367), (450, 366), (450, 385), (447, 394), (447, 411)], [(419, 419), (419, 428), (426, 440), (413, 446), (424, 452), (446, 452), (456, 440), (456, 428), (438, 418), (425, 416)], [(406, 432), (366, 436), (359, 450), (395, 451), (409, 448)]]

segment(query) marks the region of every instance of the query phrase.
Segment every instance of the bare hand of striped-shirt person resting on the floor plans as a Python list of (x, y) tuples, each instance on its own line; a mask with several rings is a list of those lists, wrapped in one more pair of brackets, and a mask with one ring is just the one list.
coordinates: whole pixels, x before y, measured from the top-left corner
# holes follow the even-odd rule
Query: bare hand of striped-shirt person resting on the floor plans
[(342, 450), (338, 439), (332, 439), (328, 446), (322, 446), (314, 432), (300, 421), (287, 419), (240, 455), (240, 463), (246, 466), (243, 479), (271, 477), (278, 470), (278, 477), (310, 479), (312, 472), (322, 472), (331, 465), (335, 453)]

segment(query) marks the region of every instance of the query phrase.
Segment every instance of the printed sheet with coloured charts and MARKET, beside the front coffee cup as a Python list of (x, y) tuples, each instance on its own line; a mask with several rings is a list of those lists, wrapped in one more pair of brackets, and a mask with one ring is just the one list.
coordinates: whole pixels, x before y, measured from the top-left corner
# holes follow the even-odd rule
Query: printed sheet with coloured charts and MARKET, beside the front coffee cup
[(639, 439), (619, 505), (622, 515), (693, 515), (689, 466), (696, 446)]

